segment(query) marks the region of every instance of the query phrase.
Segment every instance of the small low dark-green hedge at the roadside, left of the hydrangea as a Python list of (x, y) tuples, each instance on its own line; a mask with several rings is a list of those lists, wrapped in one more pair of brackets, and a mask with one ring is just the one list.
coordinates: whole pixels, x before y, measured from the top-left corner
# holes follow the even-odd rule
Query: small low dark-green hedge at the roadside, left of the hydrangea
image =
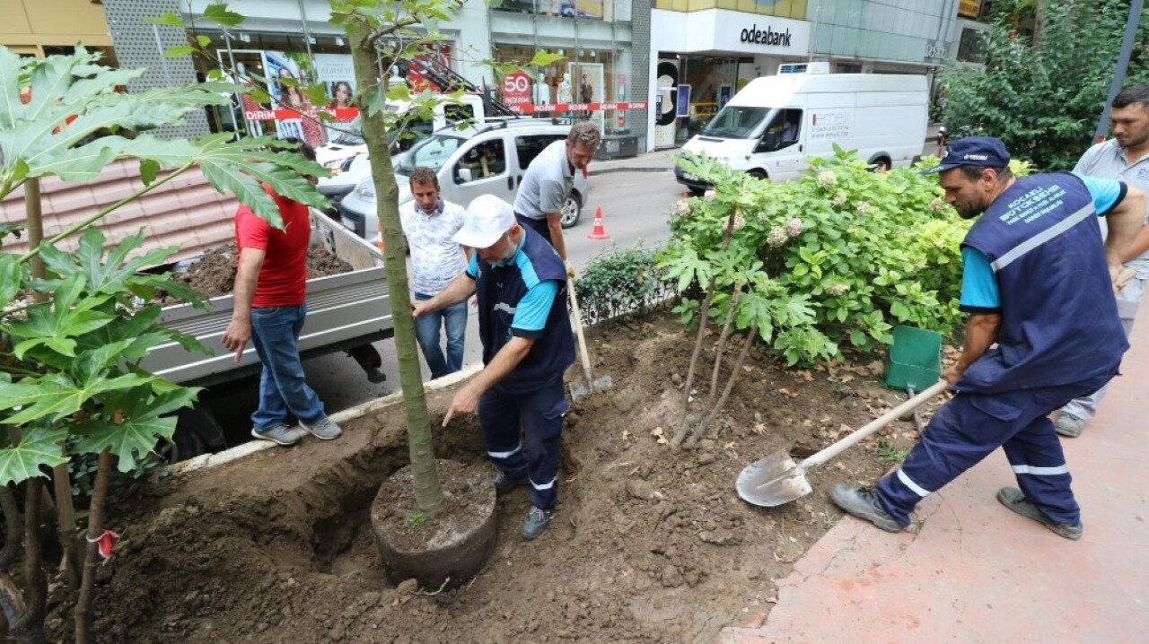
[(574, 280), (584, 324), (641, 311), (673, 295), (656, 266), (657, 249), (611, 249), (591, 258)]

